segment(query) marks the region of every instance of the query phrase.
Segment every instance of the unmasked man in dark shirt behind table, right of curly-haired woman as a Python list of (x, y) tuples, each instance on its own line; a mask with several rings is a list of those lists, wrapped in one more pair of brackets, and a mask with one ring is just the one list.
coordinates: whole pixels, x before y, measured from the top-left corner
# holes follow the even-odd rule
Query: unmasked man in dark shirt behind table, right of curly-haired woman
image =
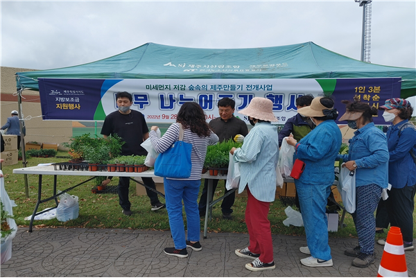
[[(236, 102), (230, 98), (223, 98), (218, 101), (218, 112), (220, 113), (220, 118), (213, 119), (209, 122), (209, 127), (215, 134), (218, 135), (219, 141), (225, 141), (228, 139), (234, 139), (236, 135), (240, 135), (241, 141), (244, 137), (248, 134), (248, 128), (244, 121), (241, 119), (237, 119), (234, 116), (234, 107)], [(214, 192), (216, 186), (218, 184), (218, 180), (213, 180), (212, 183), (212, 193), (211, 199), (214, 197)], [(202, 189), (202, 195), (200, 198), (200, 202), (198, 204), (198, 209), (200, 211), (200, 216), (205, 216), (205, 210), (207, 208), (207, 189), (208, 189), (208, 182), (205, 180), (204, 189)], [(225, 193), (228, 193), (227, 189), (225, 189)], [(223, 218), (227, 220), (231, 220), (232, 216), (232, 205), (234, 204), (234, 200), (236, 198), (236, 194), (233, 192), (227, 197), (224, 198), (223, 203), (221, 204), (221, 210), (223, 211)]]

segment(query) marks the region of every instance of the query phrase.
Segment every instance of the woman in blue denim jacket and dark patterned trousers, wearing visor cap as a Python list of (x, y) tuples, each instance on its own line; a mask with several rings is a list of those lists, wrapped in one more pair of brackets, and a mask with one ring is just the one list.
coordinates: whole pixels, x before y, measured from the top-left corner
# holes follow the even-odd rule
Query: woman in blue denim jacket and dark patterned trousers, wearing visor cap
[(352, 213), (358, 234), (358, 246), (345, 250), (347, 256), (355, 256), (352, 265), (367, 268), (374, 263), (374, 238), (376, 219), (374, 211), (381, 198), (381, 192), (388, 186), (388, 148), (383, 132), (374, 126), (372, 116), (377, 114), (375, 107), (355, 101), (347, 104), (347, 110), (339, 121), (348, 121), (349, 128), (356, 129), (349, 140), (343, 168), (356, 173), (356, 211)]

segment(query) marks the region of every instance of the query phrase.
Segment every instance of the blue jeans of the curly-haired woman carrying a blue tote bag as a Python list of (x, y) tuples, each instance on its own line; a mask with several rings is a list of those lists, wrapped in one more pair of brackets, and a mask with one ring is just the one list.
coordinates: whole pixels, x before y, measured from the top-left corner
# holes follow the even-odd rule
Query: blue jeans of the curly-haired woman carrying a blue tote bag
[[(168, 180), (164, 178), (166, 209), (175, 249), (187, 247), (187, 241), (200, 240), (200, 218), (198, 211), (198, 193), (200, 180)], [(185, 239), (184, 220), (182, 218), (182, 200), (187, 214), (188, 239)]]

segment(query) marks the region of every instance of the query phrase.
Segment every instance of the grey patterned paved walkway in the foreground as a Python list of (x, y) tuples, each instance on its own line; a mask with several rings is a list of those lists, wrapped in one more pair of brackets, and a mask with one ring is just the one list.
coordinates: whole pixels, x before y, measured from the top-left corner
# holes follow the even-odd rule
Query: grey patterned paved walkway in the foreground
[[(333, 267), (308, 268), (302, 236), (273, 235), (275, 270), (250, 272), (234, 250), (248, 245), (247, 234), (208, 234), (202, 251), (188, 250), (180, 259), (164, 254), (173, 246), (170, 231), (82, 228), (19, 228), (12, 241), (12, 259), (1, 265), (1, 277), (376, 277), (383, 247), (376, 247), (376, 263), (354, 268), (345, 247), (356, 238), (330, 238)], [(409, 277), (416, 277), (416, 251), (406, 252)]]

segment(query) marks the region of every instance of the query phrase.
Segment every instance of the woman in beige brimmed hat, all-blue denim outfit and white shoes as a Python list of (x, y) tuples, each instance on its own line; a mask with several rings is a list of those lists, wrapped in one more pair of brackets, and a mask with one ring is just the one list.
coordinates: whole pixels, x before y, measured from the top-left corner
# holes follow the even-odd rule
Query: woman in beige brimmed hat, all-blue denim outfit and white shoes
[(287, 139), (288, 144), (295, 147), (295, 157), (305, 163), (295, 185), (308, 243), (308, 247), (300, 247), (300, 252), (311, 256), (300, 262), (313, 268), (332, 266), (326, 206), (334, 179), (333, 163), (342, 141), (334, 121), (338, 112), (333, 109), (333, 100), (328, 97), (315, 97), (311, 106), (300, 108), (297, 112), (309, 116), (316, 125), (299, 143), (292, 137)]

